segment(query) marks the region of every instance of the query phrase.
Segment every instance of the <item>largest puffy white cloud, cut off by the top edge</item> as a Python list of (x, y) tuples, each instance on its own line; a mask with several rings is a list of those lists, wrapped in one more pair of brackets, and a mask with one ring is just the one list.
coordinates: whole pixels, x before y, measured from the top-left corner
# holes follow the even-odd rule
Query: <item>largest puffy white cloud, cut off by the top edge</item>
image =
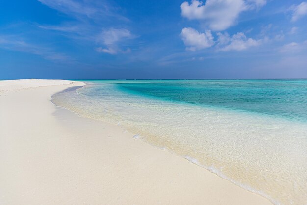
[(243, 11), (264, 6), (266, 0), (192, 0), (181, 4), (181, 15), (190, 20), (203, 20), (215, 31), (233, 26)]

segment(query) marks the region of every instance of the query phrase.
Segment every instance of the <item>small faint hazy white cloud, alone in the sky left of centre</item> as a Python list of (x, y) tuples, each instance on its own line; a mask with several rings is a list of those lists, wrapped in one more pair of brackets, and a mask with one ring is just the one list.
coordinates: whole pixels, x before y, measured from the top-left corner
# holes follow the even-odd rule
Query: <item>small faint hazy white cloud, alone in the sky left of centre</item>
[(104, 44), (106, 48), (98, 47), (96, 51), (109, 54), (117, 54), (118, 52), (127, 53), (130, 51), (130, 49), (123, 51), (118, 48), (117, 44), (122, 40), (131, 38), (134, 38), (134, 36), (125, 28), (110, 28), (108, 30), (104, 30), (97, 36), (96, 41)]

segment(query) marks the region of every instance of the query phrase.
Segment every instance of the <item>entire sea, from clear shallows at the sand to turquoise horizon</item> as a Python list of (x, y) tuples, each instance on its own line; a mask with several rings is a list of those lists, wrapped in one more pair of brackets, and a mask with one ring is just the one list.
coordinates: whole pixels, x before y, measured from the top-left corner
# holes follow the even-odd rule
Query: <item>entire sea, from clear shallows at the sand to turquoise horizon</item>
[(54, 95), (275, 204), (307, 203), (307, 80), (99, 80)]

